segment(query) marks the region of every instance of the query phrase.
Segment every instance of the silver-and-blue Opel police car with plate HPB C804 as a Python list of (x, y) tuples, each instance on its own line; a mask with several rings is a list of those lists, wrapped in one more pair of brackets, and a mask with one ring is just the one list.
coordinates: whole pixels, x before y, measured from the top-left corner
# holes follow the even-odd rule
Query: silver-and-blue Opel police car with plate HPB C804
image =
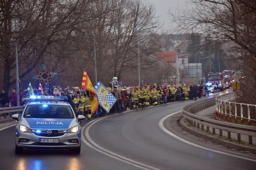
[(23, 148), (69, 149), (80, 153), (85, 116), (75, 113), (66, 96), (31, 96), (22, 114), (14, 114), (16, 123), (15, 153)]

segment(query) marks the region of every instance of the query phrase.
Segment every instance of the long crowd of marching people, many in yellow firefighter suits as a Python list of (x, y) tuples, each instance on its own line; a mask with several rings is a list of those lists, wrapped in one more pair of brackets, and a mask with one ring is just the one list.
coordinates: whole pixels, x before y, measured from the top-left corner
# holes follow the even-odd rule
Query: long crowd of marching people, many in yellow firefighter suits
[[(114, 115), (117, 113), (123, 113), (131, 109), (143, 109), (148, 106), (155, 106), (160, 104), (166, 104), (175, 101), (185, 100), (197, 100), (201, 98), (202, 91), (205, 90), (205, 94), (208, 94), (206, 86), (204, 84), (190, 84), (185, 83), (179, 85), (160, 85), (156, 84), (144, 85), (144, 86), (114, 86), (108, 87), (108, 90), (117, 99), (109, 113), (106, 113), (103, 108), (99, 106), (97, 112), (94, 114), (96, 117)], [(91, 118), (91, 101), (93, 97), (89, 91), (80, 89), (79, 87), (68, 86), (62, 90), (59, 86), (53, 86), (53, 89), (45, 88), (45, 91), (33, 89), (33, 93), (36, 96), (67, 96), (67, 102), (72, 106), (76, 116), (85, 115), (88, 120)], [(20, 93), (20, 105), (26, 105), (29, 102), (28, 90), (24, 90)], [(17, 106), (17, 92), (13, 88), (10, 95), (6, 94), (5, 90), (2, 90), (0, 94), (1, 107)]]

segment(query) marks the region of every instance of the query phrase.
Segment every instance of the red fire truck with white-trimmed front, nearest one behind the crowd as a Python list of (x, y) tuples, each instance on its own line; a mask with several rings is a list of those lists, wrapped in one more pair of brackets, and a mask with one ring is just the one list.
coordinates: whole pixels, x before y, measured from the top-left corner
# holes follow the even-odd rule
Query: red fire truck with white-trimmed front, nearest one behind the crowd
[(225, 77), (223, 73), (213, 73), (208, 74), (208, 83), (212, 83), (214, 90), (220, 89), (221, 91), (227, 88)]

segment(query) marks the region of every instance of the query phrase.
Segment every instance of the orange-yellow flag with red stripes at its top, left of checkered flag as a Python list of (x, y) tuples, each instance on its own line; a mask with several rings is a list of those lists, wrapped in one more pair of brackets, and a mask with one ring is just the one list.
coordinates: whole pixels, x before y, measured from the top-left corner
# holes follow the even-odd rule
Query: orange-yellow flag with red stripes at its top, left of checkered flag
[(86, 89), (90, 92), (91, 113), (95, 114), (99, 106), (98, 97), (85, 69), (81, 88)]

